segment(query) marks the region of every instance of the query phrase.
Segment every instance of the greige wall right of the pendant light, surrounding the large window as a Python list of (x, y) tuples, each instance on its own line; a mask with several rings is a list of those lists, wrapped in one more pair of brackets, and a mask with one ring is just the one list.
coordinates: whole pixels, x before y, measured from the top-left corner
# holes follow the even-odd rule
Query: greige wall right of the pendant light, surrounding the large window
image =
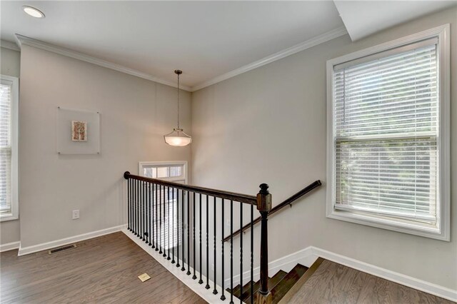
[[(194, 92), (193, 183), (251, 194), (258, 192), (260, 183), (268, 183), (275, 205), (321, 179), (318, 191), (268, 221), (269, 260), (313, 245), (457, 289), (457, 208), (451, 211), (449, 243), (336, 221), (325, 212), (326, 61), (446, 23), (453, 33), (451, 98), (456, 101), (456, 8), (356, 43), (347, 35), (333, 39)], [(456, 189), (457, 106), (451, 111), (451, 188)], [(455, 203), (457, 191), (451, 196)]]

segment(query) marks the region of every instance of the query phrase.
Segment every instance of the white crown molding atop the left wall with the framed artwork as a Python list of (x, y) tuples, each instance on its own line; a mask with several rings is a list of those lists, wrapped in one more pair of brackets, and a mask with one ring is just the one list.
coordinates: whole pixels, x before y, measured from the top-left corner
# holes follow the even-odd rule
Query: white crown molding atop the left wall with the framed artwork
[[(139, 78), (144, 78), (150, 81), (154, 81), (157, 83), (164, 84), (166, 86), (173, 86), (177, 87), (176, 83), (171, 82), (171, 81), (166, 81), (164, 79), (158, 78), (156, 76), (152, 76), (150, 74), (143, 73), (141, 71), (136, 71), (134, 69), (127, 68), (126, 66), (121, 66), (120, 64), (114, 64), (112, 62), (103, 60), (103, 59), (98, 59), (93, 56), (89, 56), (83, 53), (80, 53), (78, 51), (73, 51), (71, 49), (66, 49), (61, 46), (55, 46), (54, 44), (48, 44), (47, 42), (44, 41), (39, 41), (30, 37), (22, 36), (20, 34), (16, 34), (16, 43), (18, 44), (19, 48), (22, 47), (22, 45), (26, 46), (33, 46), (37, 49), (43, 49), (45, 51), (51, 51), (53, 53), (67, 56), (73, 59), (78, 59), (81, 61), (86, 61), (89, 62), (89, 64), (95, 64), (97, 66), (103, 66), (106, 69), (111, 69), (114, 71), (119, 71), (125, 74), (129, 74), (132, 76), (136, 76)], [(185, 91), (191, 91), (191, 88), (189, 86), (179, 86), (181, 89)]]

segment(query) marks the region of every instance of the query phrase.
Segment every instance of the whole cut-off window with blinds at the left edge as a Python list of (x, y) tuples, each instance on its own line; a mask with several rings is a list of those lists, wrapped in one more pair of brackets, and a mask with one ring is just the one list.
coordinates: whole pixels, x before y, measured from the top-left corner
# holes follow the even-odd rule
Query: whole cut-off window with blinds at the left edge
[(0, 81), (0, 219), (16, 218), (17, 78), (1, 75)]

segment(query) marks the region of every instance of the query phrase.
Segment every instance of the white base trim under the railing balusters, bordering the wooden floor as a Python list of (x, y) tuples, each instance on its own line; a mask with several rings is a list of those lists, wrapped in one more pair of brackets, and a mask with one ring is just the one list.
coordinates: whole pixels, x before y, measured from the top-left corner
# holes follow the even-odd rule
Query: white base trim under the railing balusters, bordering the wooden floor
[[(191, 290), (194, 291), (197, 295), (199, 295), (201, 298), (206, 300), (208, 303), (228, 303), (227, 300), (223, 301), (221, 300), (221, 291), (222, 288), (219, 285), (216, 285), (216, 290), (218, 290), (218, 293), (216, 295), (213, 294), (214, 290), (214, 282), (209, 280), (209, 289), (206, 289), (206, 277), (202, 275), (203, 284), (198, 283), (198, 279), (193, 280), (191, 278), (191, 275), (186, 275), (186, 272), (188, 270), (188, 265), (186, 264), (186, 271), (181, 271), (181, 268), (176, 267), (176, 264), (172, 264), (170, 260), (166, 260), (161, 254), (159, 254), (159, 251), (156, 251), (155, 249), (151, 248), (148, 244), (144, 243), (143, 240), (140, 240), (137, 236), (135, 236), (133, 233), (131, 233), (129, 230), (124, 229), (122, 232), (125, 233), (131, 240), (133, 240), (136, 245), (139, 245), (141, 249), (146, 251), (146, 253), (149, 253), (154, 260), (159, 262), (166, 270), (169, 270), (169, 272), (174, 275), (176, 278), (181, 280), (182, 283), (186, 284), (187, 287), (189, 287)], [(177, 260), (177, 259), (176, 259)], [(179, 260), (179, 263), (182, 265), (182, 260)], [(190, 268), (191, 273), (194, 273), (194, 269)], [(200, 278), (200, 273), (196, 271), (196, 276), (197, 278)], [(228, 293), (225, 291), (226, 297), (228, 297)]]

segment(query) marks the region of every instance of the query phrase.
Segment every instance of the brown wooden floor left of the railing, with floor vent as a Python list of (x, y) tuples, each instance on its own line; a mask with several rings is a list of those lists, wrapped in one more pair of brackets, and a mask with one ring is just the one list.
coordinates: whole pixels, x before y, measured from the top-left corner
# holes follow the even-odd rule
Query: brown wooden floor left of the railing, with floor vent
[(206, 303), (121, 232), (54, 255), (1, 253), (0, 302)]

